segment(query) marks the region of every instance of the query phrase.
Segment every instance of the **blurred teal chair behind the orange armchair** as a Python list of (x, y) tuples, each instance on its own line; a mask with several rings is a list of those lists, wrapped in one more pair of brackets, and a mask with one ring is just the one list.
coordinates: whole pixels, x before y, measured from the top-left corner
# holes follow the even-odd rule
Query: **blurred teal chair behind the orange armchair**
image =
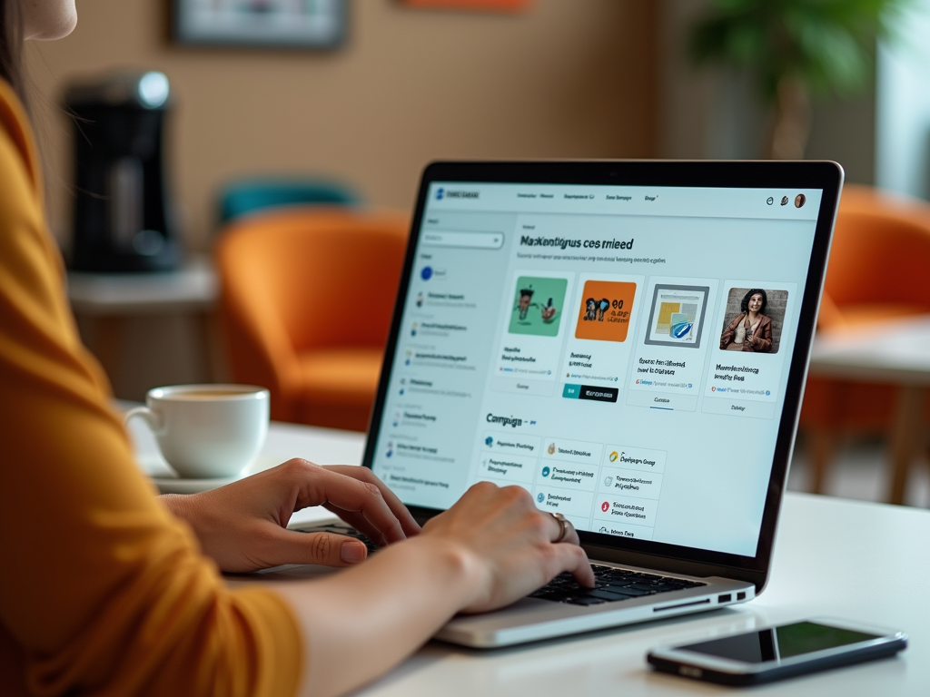
[(235, 217), (284, 205), (358, 205), (355, 191), (324, 179), (243, 179), (219, 192), (219, 226)]

